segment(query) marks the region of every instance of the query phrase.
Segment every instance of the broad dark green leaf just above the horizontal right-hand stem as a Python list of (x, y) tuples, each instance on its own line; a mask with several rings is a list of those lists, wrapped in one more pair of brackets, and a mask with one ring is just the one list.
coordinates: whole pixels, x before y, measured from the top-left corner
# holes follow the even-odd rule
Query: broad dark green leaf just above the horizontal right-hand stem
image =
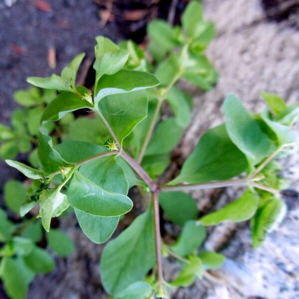
[(231, 142), (223, 125), (205, 133), (169, 184), (229, 179), (247, 168), (245, 155)]

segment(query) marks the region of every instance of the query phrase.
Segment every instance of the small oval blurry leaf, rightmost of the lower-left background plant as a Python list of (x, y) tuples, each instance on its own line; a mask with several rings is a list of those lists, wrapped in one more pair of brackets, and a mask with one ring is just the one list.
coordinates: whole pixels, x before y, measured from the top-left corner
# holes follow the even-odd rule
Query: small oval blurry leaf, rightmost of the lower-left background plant
[(46, 237), (49, 247), (59, 256), (68, 256), (75, 250), (74, 242), (61, 230), (51, 229)]

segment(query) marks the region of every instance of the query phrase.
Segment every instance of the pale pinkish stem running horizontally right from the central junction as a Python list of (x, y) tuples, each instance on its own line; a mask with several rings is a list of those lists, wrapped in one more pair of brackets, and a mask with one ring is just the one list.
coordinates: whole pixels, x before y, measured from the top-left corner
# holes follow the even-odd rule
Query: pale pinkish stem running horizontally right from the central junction
[(250, 181), (247, 178), (229, 179), (215, 182), (204, 182), (199, 184), (185, 184), (185, 185), (174, 185), (174, 186), (161, 186), (161, 191), (186, 191), (186, 190), (198, 190), (208, 188), (222, 188), (229, 186), (240, 186), (248, 185)]

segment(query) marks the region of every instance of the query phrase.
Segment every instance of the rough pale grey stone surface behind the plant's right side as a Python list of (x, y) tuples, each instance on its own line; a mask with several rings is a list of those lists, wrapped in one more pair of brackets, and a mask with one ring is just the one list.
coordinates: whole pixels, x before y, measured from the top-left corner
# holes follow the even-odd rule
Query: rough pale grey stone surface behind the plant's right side
[[(181, 151), (187, 156), (200, 136), (223, 121), (221, 105), (227, 93), (239, 96), (255, 112), (263, 109), (261, 91), (277, 93), (289, 104), (299, 96), (299, 31), (288, 20), (280, 23), (265, 19), (258, 0), (203, 1), (206, 16), (214, 20), (218, 36), (208, 49), (208, 56), (218, 68), (216, 88), (195, 95), (193, 123), (186, 130)], [(298, 126), (297, 126), (298, 128)], [(284, 174), (291, 187), (299, 188), (299, 155), (283, 160)], [(214, 191), (196, 191), (192, 195), (203, 210), (215, 209), (233, 198), (236, 190), (218, 191), (219, 201), (211, 200)], [(235, 193), (235, 194), (234, 194)], [(246, 224), (225, 223), (210, 230), (205, 242), (209, 250), (222, 249), (228, 259), (217, 273), (218, 282), (209, 281), (202, 288), (197, 282), (189, 290), (178, 290), (173, 298), (299, 298), (299, 209), (295, 204), (263, 246), (253, 250)]]

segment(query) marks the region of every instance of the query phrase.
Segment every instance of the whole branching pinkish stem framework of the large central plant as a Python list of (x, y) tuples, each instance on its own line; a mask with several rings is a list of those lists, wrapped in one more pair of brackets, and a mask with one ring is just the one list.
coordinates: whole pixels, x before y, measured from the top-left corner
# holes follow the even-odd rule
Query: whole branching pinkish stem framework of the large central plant
[[(160, 235), (160, 215), (159, 215), (159, 200), (158, 200), (158, 194), (160, 191), (187, 191), (187, 190), (195, 190), (195, 189), (207, 189), (207, 188), (221, 188), (221, 187), (228, 187), (228, 186), (240, 186), (240, 185), (251, 185), (253, 187), (266, 190), (269, 192), (272, 192), (274, 194), (278, 193), (278, 190), (275, 190), (273, 188), (260, 185), (253, 181), (256, 174), (258, 174), (270, 161), (272, 158), (276, 156), (276, 154), (282, 149), (279, 148), (276, 151), (274, 151), (269, 157), (267, 157), (260, 165), (259, 167), (247, 178), (238, 178), (238, 179), (229, 179), (229, 180), (222, 180), (222, 181), (214, 181), (214, 182), (203, 182), (199, 184), (180, 184), (180, 185), (174, 185), (174, 186), (159, 186), (156, 182), (154, 182), (150, 177), (149, 174), (143, 169), (141, 166), (141, 162), (143, 160), (143, 157), (145, 155), (146, 149), (149, 145), (150, 138), (152, 136), (152, 132), (154, 130), (154, 126), (157, 121), (157, 117), (159, 115), (159, 111), (162, 105), (163, 100), (165, 99), (165, 96), (171, 89), (171, 87), (175, 84), (175, 82), (179, 79), (180, 73), (174, 76), (170, 84), (162, 91), (161, 95), (159, 95), (157, 106), (155, 107), (155, 111), (153, 114), (153, 118), (151, 120), (151, 123), (149, 125), (149, 130), (147, 132), (144, 144), (142, 146), (142, 149), (140, 151), (138, 160), (134, 160), (125, 150), (123, 150), (120, 146), (120, 143), (114, 134), (112, 128), (110, 127), (109, 123), (106, 121), (105, 117), (101, 113), (101, 111), (98, 109), (98, 107), (94, 108), (95, 113), (100, 117), (103, 124), (109, 131), (111, 137), (113, 138), (114, 142), (118, 145), (119, 150), (106, 152), (99, 154), (97, 156), (91, 157), (89, 159), (83, 160), (77, 165), (82, 165), (86, 163), (87, 161), (99, 158), (101, 156), (107, 156), (112, 154), (119, 154), (135, 171), (139, 174), (139, 176), (145, 181), (145, 183), (149, 186), (151, 191), (151, 200), (152, 200), (152, 208), (153, 208), (153, 221), (154, 221), (154, 236), (155, 236), (155, 253), (156, 253), (156, 267), (157, 267), (157, 282), (160, 288), (162, 288), (163, 292), (165, 292), (165, 295), (167, 296), (166, 290), (164, 290), (165, 283), (163, 278), (163, 268), (162, 268), (162, 243), (161, 243), (161, 235)], [(189, 263), (189, 261), (183, 257), (180, 257), (173, 253), (171, 250), (168, 249), (168, 247), (165, 247), (166, 251), (172, 255), (174, 258), (184, 262)]]

